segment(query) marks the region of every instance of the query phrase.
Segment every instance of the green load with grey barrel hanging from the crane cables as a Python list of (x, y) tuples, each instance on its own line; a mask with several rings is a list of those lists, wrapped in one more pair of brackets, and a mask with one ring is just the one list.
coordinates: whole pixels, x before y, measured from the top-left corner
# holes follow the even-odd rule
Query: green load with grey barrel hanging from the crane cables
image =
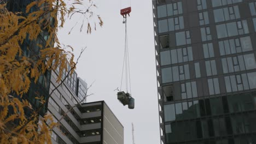
[(131, 97), (130, 93), (118, 92), (118, 100), (125, 106), (128, 105), (129, 109), (134, 109), (135, 99)]

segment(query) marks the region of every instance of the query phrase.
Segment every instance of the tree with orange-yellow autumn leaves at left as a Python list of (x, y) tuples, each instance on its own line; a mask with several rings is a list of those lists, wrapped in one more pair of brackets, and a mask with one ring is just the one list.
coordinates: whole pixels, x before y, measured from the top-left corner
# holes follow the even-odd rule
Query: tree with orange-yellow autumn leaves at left
[[(59, 83), (63, 81), (62, 71), (67, 71), (67, 64), (72, 68), (68, 74), (73, 73), (77, 64), (73, 47), (63, 46), (57, 35), (66, 19), (82, 15), (80, 31), (85, 27), (87, 33), (103, 22), (92, 11), (96, 5), (91, 0), (38, 0), (27, 4), (23, 11), (9, 11), (8, 3), (4, 3), (8, 1), (0, 2), (1, 143), (51, 143), (51, 129), (56, 123), (49, 114), (42, 119), (38, 117), (49, 97), (35, 93), (34, 97), (40, 100), (36, 108), (24, 97), (31, 83), (38, 83), (40, 77), (51, 70), (59, 67)], [(88, 7), (85, 8), (84, 3)], [(92, 20), (95, 17), (96, 20)], [(42, 35), (46, 35), (44, 44), (37, 42)], [(25, 115), (27, 110), (32, 112), (30, 117)]]

